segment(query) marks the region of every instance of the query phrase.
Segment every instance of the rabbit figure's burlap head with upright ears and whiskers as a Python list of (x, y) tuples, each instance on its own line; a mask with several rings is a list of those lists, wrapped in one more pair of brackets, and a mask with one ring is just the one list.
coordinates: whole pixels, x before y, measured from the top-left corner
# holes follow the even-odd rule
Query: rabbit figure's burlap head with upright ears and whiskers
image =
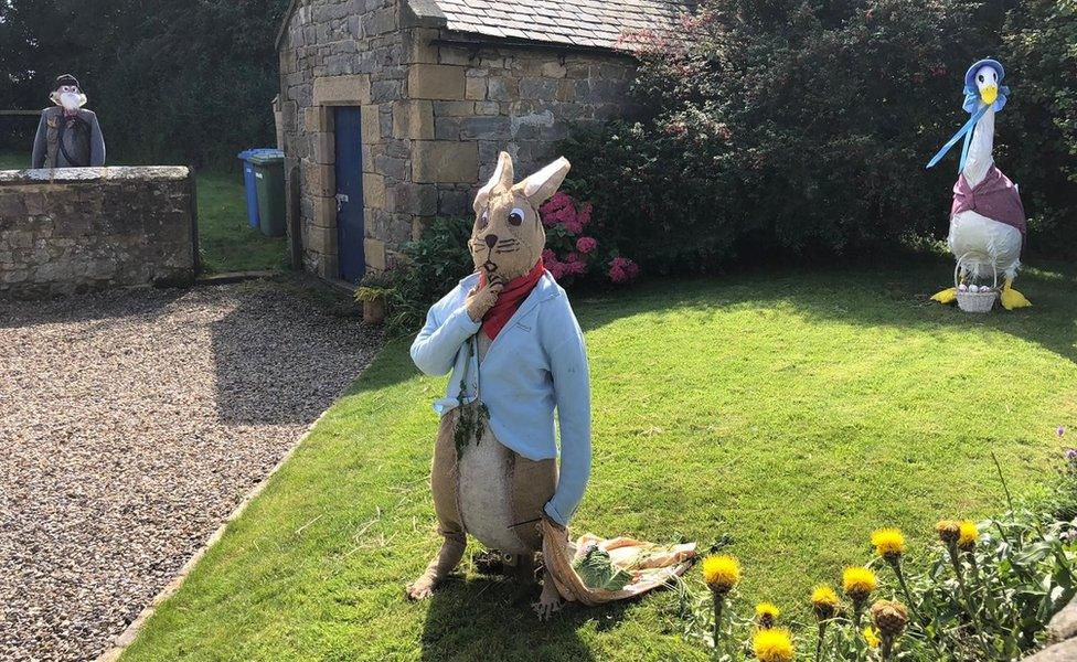
[(501, 152), (493, 177), (474, 196), (471, 257), (491, 282), (527, 274), (542, 257), (546, 232), (538, 206), (550, 200), (568, 174), (564, 157), (513, 184), (512, 157)]

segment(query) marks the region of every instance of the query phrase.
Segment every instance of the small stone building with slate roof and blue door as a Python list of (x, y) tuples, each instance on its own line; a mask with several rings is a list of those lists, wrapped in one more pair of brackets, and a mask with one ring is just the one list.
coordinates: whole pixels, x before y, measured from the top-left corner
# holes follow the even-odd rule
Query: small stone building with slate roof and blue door
[(470, 215), (508, 150), (518, 172), (626, 111), (625, 38), (679, 0), (292, 0), (277, 38), (294, 255), (327, 279), (384, 269), (438, 215)]

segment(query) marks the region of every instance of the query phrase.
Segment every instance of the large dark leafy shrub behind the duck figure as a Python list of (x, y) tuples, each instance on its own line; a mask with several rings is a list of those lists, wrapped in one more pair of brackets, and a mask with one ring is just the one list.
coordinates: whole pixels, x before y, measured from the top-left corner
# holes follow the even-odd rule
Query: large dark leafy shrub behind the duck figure
[(990, 55), (1014, 90), (995, 157), (1030, 241), (1073, 250), (1077, 2), (989, 6), (702, 0), (691, 46), (637, 35), (648, 115), (569, 141), (573, 180), (648, 271), (942, 237), (957, 159), (924, 166), (968, 118), (966, 68)]

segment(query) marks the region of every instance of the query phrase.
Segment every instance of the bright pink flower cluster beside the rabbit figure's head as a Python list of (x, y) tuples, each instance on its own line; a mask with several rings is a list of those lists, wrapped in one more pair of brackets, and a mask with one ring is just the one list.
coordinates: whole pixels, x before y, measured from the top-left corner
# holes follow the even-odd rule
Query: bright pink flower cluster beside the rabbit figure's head
[(579, 203), (563, 192), (538, 209), (546, 227), (543, 264), (563, 284), (588, 275), (603, 275), (616, 284), (633, 280), (639, 276), (639, 266), (620, 256), (610, 242), (599, 242), (594, 236), (599, 228), (591, 223), (593, 211), (589, 202)]

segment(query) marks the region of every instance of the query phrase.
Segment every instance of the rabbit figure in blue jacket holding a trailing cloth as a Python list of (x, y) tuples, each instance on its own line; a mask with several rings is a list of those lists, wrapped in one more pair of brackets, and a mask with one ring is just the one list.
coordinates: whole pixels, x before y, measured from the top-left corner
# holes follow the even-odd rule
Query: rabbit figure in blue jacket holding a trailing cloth
[[(463, 556), (467, 534), (529, 568), (545, 553), (541, 619), (561, 597), (598, 604), (638, 595), (683, 572), (693, 545), (659, 548), (630, 538), (567, 540), (569, 517), (590, 474), (590, 384), (579, 324), (565, 290), (542, 263), (540, 205), (557, 191), (569, 163), (561, 158), (513, 183), (512, 159), (501, 152), (493, 177), (474, 199), (469, 243), (476, 273), (430, 308), (412, 344), (424, 373), (449, 371), (435, 403), (440, 425), (430, 487), (441, 548), (414, 583), (412, 599), (428, 597)], [(561, 466), (554, 413), (561, 434)], [(605, 559), (621, 576), (623, 595), (593, 592), (573, 569), (577, 556)], [(621, 572), (610, 565), (652, 567)], [(609, 579), (610, 577), (607, 577)], [(608, 586), (606, 588), (609, 588)]]

